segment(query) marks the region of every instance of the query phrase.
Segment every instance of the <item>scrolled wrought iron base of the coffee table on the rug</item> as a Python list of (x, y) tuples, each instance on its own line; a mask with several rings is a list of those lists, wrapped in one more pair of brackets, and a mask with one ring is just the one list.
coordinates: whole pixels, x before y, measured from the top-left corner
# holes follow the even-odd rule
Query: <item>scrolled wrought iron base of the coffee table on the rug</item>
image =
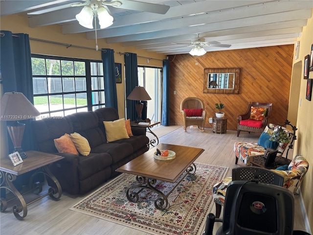
[[(175, 188), (179, 185), (179, 183), (188, 175), (188, 174), (194, 174), (196, 172), (197, 168), (195, 164), (190, 165), (187, 169), (184, 175), (180, 178), (180, 180), (176, 183), (176, 185), (169, 191), (166, 195), (158, 190), (154, 185), (156, 184), (155, 179), (150, 179), (142, 176), (136, 176), (136, 181), (139, 183), (139, 185), (135, 185), (133, 187), (130, 187), (126, 191), (127, 199), (130, 202), (138, 202), (139, 200), (139, 193), (144, 190), (151, 190), (152, 192), (156, 192), (158, 194), (158, 197), (155, 201), (155, 207), (158, 210), (165, 210), (169, 206), (168, 202), (168, 196), (175, 190)], [(175, 183), (174, 183), (175, 184)], [(134, 189), (140, 188), (139, 191), (135, 191)], [(133, 190), (132, 190), (133, 189)]]

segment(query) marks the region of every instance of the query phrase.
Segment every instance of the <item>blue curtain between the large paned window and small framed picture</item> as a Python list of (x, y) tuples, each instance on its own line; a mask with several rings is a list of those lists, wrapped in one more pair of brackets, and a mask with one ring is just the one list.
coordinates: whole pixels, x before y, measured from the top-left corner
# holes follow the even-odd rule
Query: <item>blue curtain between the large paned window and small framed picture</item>
[(117, 109), (117, 93), (115, 81), (115, 63), (114, 50), (102, 49), (102, 63), (104, 73), (104, 92), (106, 98), (106, 107)]

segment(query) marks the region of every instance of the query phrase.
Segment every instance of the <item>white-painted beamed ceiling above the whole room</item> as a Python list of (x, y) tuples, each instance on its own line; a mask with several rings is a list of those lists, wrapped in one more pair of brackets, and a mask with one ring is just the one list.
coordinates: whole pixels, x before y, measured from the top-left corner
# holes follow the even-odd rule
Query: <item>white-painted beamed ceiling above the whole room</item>
[[(108, 0), (109, 1), (109, 0)], [(205, 38), (231, 47), (204, 47), (206, 51), (268, 47), (294, 44), (302, 27), (312, 17), (313, 0), (137, 0), (171, 6), (164, 14), (108, 6), (113, 24), (97, 29), (97, 38), (108, 44), (121, 43), (138, 50), (166, 55), (191, 50), (191, 39)], [(29, 27), (61, 24), (63, 34), (86, 32), (94, 40), (94, 29), (84, 28), (75, 19), (82, 7), (70, 3), (82, 0), (1, 0), (0, 15), (28, 17)], [(39, 15), (29, 12), (49, 9)], [(99, 25), (97, 28), (100, 28)], [(176, 45), (186, 44), (184, 45)]]

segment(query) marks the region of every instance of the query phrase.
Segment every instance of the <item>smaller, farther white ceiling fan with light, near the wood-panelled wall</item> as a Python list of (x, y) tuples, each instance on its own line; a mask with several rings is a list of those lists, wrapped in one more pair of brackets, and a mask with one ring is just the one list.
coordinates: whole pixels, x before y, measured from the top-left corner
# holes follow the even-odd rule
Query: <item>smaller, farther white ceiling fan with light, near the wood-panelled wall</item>
[(199, 38), (199, 37), (191, 39), (190, 44), (184, 44), (184, 43), (173, 43), (173, 44), (193, 47), (191, 51), (189, 51), (189, 54), (191, 55), (204, 55), (206, 51), (203, 47), (231, 47), (231, 45), (229, 44), (221, 44), (220, 42), (217, 42), (217, 41), (205, 42), (205, 38)]

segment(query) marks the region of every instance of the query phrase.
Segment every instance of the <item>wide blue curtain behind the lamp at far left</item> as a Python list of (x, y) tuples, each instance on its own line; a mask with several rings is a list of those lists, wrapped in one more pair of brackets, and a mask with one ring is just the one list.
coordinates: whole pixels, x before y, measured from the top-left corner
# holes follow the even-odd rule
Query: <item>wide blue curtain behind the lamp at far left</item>
[[(0, 37), (0, 70), (2, 76), (3, 93), (21, 92), (34, 103), (33, 82), (31, 70), (31, 53), (28, 34), (12, 34), (1, 30)], [(22, 140), (24, 151), (36, 149), (31, 131), (31, 120), (23, 120), (25, 131)], [(13, 152), (13, 144), (9, 139), (9, 152)]]

